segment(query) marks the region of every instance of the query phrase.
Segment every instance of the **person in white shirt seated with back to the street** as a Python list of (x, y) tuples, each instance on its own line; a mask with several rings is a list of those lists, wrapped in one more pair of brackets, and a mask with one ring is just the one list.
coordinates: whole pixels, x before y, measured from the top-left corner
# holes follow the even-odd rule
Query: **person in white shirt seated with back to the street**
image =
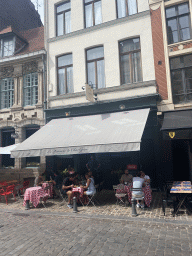
[[(140, 191), (133, 191), (132, 192), (132, 197), (137, 198), (137, 197), (142, 197), (144, 196), (144, 193), (142, 191), (142, 187), (145, 187), (145, 182), (144, 179), (140, 177), (141, 176), (141, 172), (137, 173), (137, 177), (133, 177), (133, 189), (141, 189)], [(139, 200), (137, 200), (137, 207), (141, 207), (144, 208), (144, 200), (141, 200), (141, 205), (139, 204)]]

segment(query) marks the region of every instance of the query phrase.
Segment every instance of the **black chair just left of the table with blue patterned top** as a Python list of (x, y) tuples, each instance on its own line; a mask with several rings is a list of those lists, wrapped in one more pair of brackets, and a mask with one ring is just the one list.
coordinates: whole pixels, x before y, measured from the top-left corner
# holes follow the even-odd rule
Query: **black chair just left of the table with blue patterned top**
[(176, 198), (170, 194), (171, 186), (173, 182), (166, 182), (162, 191), (162, 211), (165, 216), (165, 209), (167, 205), (173, 205), (174, 212), (176, 211)]

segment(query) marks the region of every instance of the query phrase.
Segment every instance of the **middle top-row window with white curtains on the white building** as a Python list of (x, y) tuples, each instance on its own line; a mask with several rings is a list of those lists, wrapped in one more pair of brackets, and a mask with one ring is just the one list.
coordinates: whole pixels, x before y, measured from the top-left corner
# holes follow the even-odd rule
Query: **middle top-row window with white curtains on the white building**
[(85, 27), (92, 27), (102, 23), (101, 0), (84, 0)]

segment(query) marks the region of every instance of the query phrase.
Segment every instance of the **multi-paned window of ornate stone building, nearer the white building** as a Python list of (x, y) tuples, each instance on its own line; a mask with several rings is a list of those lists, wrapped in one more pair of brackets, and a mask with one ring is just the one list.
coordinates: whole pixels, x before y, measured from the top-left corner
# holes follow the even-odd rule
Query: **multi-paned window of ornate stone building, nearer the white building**
[(38, 102), (38, 74), (24, 76), (24, 106), (33, 106)]

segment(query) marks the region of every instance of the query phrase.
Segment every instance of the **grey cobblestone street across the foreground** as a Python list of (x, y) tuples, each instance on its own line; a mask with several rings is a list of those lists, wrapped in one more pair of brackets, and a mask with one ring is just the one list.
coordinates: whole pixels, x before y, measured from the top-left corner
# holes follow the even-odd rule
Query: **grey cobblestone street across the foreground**
[(189, 256), (192, 222), (0, 210), (0, 256)]

